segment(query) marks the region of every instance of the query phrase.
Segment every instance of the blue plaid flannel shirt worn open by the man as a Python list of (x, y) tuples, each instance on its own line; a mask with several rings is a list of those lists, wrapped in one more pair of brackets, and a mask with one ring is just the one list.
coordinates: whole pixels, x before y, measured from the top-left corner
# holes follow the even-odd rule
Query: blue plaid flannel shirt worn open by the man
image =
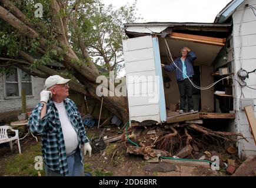
[[(69, 120), (75, 132), (77, 132), (81, 163), (83, 163), (81, 146), (89, 142), (88, 137), (85, 135), (85, 127), (75, 103), (71, 99), (66, 98), (64, 105)], [(49, 169), (59, 172), (62, 176), (66, 176), (68, 174), (68, 163), (58, 110), (51, 99), (48, 100), (46, 115), (42, 119), (41, 110), (42, 104), (38, 103), (29, 116), (28, 128), (33, 133), (42, 133), (41, 145), (44, 163)]]

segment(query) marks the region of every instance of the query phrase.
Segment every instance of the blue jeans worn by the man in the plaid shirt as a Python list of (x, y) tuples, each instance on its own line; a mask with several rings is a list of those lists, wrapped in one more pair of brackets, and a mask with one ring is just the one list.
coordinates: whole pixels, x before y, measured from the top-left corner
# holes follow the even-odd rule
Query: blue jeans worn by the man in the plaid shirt
[[(77, 149), (67, 157), (68, 162), (68, 174), (67, 176), (85, 176), (84, 164), (81, 164), (80, 150)], [(61, 176), (59, 172), (49, 169), (45, 165), (46, 176)]]

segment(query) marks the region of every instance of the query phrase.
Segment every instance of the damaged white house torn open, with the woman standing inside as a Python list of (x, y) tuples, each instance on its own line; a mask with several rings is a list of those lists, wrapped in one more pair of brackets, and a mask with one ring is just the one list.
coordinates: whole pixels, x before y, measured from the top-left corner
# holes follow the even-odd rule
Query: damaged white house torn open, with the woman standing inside
[[(123, 48), (131, 124), (220, 120), (227, 132), (242, 133), (247, 138), (248, 142), (237, 141), (238, 155), (255, 155), (255, 12), (255, 1), (234, 0), (212, 24), (124, 24), (129, 38)], [(165, 71), (161, 63), (171, 63), (184, 46), (197, 55), (194, 84), (211, 87), (193, 88), (194, 110), (198, 113), (180, 116), (175, 72)], [(245, 106), (253, 108), (246, 110)]]

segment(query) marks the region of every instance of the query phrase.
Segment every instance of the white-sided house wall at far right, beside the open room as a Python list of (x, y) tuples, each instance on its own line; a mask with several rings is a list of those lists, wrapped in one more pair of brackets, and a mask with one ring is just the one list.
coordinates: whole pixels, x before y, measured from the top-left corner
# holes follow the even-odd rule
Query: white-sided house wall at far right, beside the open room
[[(246, 0), (241, 4), (237, 10), (232, 14), (233, 20), (233, 47), (234, 47), (234, 72), (236, 73), (240, 68), (250, 72), (256, 68), (256, 16), (251, 8), (245, 8), (245, 4), (255, 6), (255, 0)], [(238, 76), (236, 76), (237, 79)], [(251, 88), (256, 88), (256, 75), (250, 73), (249, 78), (245, 79), (247, 85)], [(249, 142), (239, 140), (237, 143), (240, 156), (248, 157), (256, 155), (256, 146), (250, 133), (250, 126), (245, 115), (244, 110), (240, 107), (241, 87), (235, 82), (235, 110), (236, 119), (235, 125), (237, 132), (241, 132), (247, 137)], [(247, 87), (242, 88), (245, 98), (254, 99), (256, 103), (256, 90)], [(254, 106), (254, 114), (256, 115), (256, 108)]]

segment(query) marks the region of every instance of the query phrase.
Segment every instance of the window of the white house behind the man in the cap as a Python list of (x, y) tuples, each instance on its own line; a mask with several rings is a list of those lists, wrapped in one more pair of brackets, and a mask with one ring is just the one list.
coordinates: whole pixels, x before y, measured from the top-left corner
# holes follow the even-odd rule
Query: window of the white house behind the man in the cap
[(6, 97), (21, 96), (21, 89), (25, 89), (26, 95), (32, 95), (31, 76), (21, 69), (14, 69), (5, 76)]

